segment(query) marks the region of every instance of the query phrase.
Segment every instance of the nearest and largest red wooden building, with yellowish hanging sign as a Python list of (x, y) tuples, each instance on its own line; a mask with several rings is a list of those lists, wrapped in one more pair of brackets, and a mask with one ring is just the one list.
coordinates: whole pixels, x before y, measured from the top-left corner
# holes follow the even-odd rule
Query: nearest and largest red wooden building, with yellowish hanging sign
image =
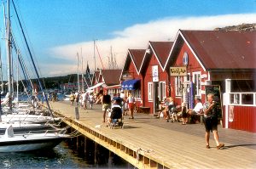
[(217, 86), (224, 127), (256, 132), (255, 44), (255, 31), (178, 31), (165, 65), (172, 97), (193, 107)]

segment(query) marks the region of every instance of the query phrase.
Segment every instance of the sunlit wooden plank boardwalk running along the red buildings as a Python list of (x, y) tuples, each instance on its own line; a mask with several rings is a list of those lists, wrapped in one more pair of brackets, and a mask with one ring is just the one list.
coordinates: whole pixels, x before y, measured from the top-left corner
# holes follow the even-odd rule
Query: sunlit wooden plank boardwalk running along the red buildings
[(218, 127), (224, 149), (216, 149), (212, 133), (211, 149), (206, 149), (201, 124), (181, 125), (136, 114), (135, 120), (125, 116), (123, 129), (109, 129), (102, 123), (101, 105), (79, 108), (79, 121), (74, 120), (75, 106), (68, 102), (50, 105), (67, 117), (68, 125), (138, 168), (256, 168), (256, 133)]

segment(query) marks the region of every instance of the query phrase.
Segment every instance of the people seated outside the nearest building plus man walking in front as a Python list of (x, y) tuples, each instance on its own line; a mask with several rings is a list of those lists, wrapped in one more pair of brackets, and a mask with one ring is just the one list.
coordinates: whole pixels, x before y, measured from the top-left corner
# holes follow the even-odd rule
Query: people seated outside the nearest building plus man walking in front
[[(201, 103), (201, 99), (195, 99), (195, 108), (187, 110), (186, 104), (182, 103), (181, 106), (175, 106), (172, 97), (165, 98), (163, 102), (160, 104), (160, 112), (158, 114), (158, 118), (160, 114), (163, 114), (163, 117), (168, 121), (172, 116), (172, 120), (177, 121), (177, 118), (182, 118), (183, 125), (187, 124), (189, 117), (197, 117), (203, 116), (203, 121), (206, 129), (205, 139), (207, 143), (207, 149), (210, 149), (209, 139), (210, 132), (213, 132), (213, 136), (217, 145), (217, 149), (224, 147), (224, 144), (219, 143), (218, 141), (218, 110), (217, 105), (214, 102), (214, 94), (207, 94), (207, 102), (205, 104)], [(181, 107), (181, 111), (177, 112), (177, 109)], [(176, 111), (176, 112), (175, 112)]]

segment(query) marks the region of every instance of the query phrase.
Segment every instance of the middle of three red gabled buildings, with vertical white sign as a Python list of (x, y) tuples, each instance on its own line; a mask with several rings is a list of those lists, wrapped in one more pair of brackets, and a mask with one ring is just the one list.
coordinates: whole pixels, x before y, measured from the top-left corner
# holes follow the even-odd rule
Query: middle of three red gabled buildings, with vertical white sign
[(170, 81), (164, 65), (173, 42), (148, 42), (139, 73), (143, 76), (143, 106), (150, 113), (159, 109), (159, 101), (170, 96)]

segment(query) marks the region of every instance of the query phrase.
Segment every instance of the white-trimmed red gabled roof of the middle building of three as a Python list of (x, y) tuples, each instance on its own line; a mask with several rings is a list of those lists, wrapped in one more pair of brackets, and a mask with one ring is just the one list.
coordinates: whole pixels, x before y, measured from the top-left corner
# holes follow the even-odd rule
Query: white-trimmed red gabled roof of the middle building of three
[[(159, 62), (162, 70), (164, 70), (164, 66), (166, 64), (166, 60), (170, 54), (172, 49), (173, 42), (148, 42), (148, 48), (146, 49), (146, 53), (143, 57), (143, 64), (140, 67), (139, 72), (143, 70), (143, 67), (148, 63), (148, 56), (152, 56), (151, 51), (153, 51), (156, 59)], [(151, 58), (151, 57), (150, 57)]]

